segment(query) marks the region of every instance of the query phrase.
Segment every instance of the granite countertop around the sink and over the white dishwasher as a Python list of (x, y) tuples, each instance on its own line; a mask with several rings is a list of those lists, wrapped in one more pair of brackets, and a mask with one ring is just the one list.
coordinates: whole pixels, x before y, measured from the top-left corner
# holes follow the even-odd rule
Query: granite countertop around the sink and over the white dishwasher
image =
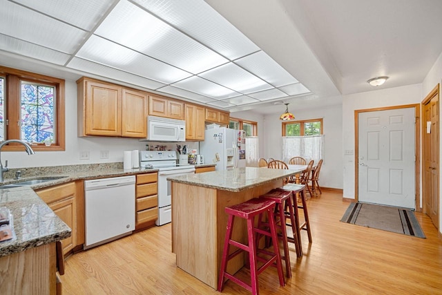
[[(70, 236), (70, 228), (37, 196), (34, 190), (75, 180), (110, 178), (158, 171), (157, 169), (144, 168), (122, 169), (122, 163), (121, 165), (116, 164), (48, 166), (26, 169), (28, 177), (23, 177), (20, 180), (6, 178), (4, 182), (0, 182), (1, 186), (35, 178), (62, 177), (31, 186), (8, 189), (0, 187), (0, 207), (7, 207), (12, 213), (16, 234), (16, 238), (0, 242), (0, 257), (63, 240)], [(21, 170), (23, 171), (23, 169)]]

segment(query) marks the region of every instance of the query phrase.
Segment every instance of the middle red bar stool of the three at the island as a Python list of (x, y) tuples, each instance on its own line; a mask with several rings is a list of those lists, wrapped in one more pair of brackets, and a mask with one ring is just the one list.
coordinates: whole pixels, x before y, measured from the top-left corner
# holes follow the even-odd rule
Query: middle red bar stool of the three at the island
[[(294, 204), (293, 193), (291, 191), (285, 191), (280, 189), (272, 189), (268, 193), (261, 195), (260, 198), (264, 198), (266, 200), (271, 200), (276, 202), (275, 207), (275, 220), (276, 220), (276, 228), (281, 231), (281, 240), (282, 246), (284, 247), (284, 260), (285, 260), (285, 273), (287, 278), (291, 277), (291, 267), (290, 267), (290, 252), (289, 252), (289, 238), (287, 237), (287, 229), (286, 229), (286, 218), (290, 219), (290, 226), (294, 234), (294, 238), (290, 239), (290, 242), (295, 244), (296, 255), (298, 255), (299, 248), (299, 239), (297, 237), (298, 230), (296, 230), (296, 219), (294, 216)], [(289, 208), (289, 212), (285, 213), (285, 208)], [(259, 227), (259, 226), (258, 226)]]

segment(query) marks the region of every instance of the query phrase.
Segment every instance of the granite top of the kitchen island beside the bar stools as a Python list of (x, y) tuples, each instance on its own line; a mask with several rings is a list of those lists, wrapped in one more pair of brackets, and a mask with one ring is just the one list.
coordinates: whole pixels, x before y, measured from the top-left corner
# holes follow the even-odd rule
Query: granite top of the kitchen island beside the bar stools
[(212, 171), (198, 174), (185, 174), (171, 176), (167, 180), (198, 187), (220, 189), (223, 191), (243, 191), (260, 184), (287, 178), (299, 173), (296, 170), (287, 169), (263, 169), (258, 167), (245, 167), (233, 170)]

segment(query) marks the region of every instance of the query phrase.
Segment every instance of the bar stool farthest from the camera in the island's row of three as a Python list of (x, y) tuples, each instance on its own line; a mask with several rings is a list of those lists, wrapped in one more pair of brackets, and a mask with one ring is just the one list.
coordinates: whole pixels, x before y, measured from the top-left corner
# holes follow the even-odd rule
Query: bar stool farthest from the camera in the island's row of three
[[(298, 239), (299, 239), (299, 248), (300, 248), (300, 255), (302, 256), (302, 242), (301, 242), (301, 230), (307, 231), (307, 235), (309, 236), (309, 242), (312, 242), (311, 239), (311, 229), (310, 229), (310, 222), (309, 222), (309, 212), (307, 211), (307, 201), (305, 199), (305, 184), (294, 184), (289, 183), (286, 184), (284, 187), (280, 188), (284, 191), (291, 191), (293, 193), (293, 203), (294, 203), (294, 213), (295, 213), (295, 222), (296, 227), (298, 228)], [(301, 199), (302, 205), (298, 205), (298, 202), (296, 200), (296, 196), (299, 194), (299, 197)], [(296, 205), (296, 206), (295, 206)], [(299, 213), (298, 209), (302, 209), (304, 213), (304, 222), (302, 224), (300, 223)]]

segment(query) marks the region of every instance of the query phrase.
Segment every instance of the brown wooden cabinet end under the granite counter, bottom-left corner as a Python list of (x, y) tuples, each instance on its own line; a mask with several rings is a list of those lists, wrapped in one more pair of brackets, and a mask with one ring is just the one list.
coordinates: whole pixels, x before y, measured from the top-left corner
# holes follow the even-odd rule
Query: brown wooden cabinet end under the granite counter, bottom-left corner
[(57, 294), (55, 242), (0, 257), (0, 294)]

